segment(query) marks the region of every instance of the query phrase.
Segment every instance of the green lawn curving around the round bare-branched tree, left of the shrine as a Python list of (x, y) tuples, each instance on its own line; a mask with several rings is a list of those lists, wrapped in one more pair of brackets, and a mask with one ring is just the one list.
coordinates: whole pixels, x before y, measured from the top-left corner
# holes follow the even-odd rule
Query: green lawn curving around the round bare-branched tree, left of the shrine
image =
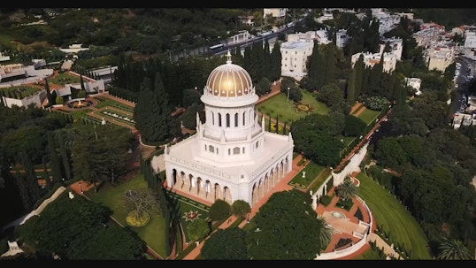
[(120, 182), (115, 186), (106, 184), (104, 188), (99, 189), (97, 194), (94, 193), (94, 189), (91, 189), (86, 195), (88, 195), (92, 201), (102, 203), (104, 206), (110, 208), (113, 211), (112, 217), (122, 226), (126, 226), (137, 233), (158, 255), (167, 257), (165, 240), (168, 239), (168, 237), (164, 235), (165, 225), (162, 216), (150, 215), (150, 222), (142, 227), (128, 226), (126, 223), (126, 216), (129, 211), (126, 211), (123, 207), (124, 193), (128, 189), (145, 187), (147, 187), (146, 181), (143, 180), (142, 175), (137, 174), (134, 179)]

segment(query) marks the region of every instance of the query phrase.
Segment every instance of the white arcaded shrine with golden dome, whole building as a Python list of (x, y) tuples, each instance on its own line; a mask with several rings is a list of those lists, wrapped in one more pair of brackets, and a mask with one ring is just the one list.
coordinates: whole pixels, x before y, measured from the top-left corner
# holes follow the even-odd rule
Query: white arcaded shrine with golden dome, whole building
[(253, 206), (291, 171), (294, 142), (290, 133), (265, 131), (250, 74), (226, 57), (203, 88), (205, 122), (197, 113), (196, 134), (165, 148), (167, 188)]

